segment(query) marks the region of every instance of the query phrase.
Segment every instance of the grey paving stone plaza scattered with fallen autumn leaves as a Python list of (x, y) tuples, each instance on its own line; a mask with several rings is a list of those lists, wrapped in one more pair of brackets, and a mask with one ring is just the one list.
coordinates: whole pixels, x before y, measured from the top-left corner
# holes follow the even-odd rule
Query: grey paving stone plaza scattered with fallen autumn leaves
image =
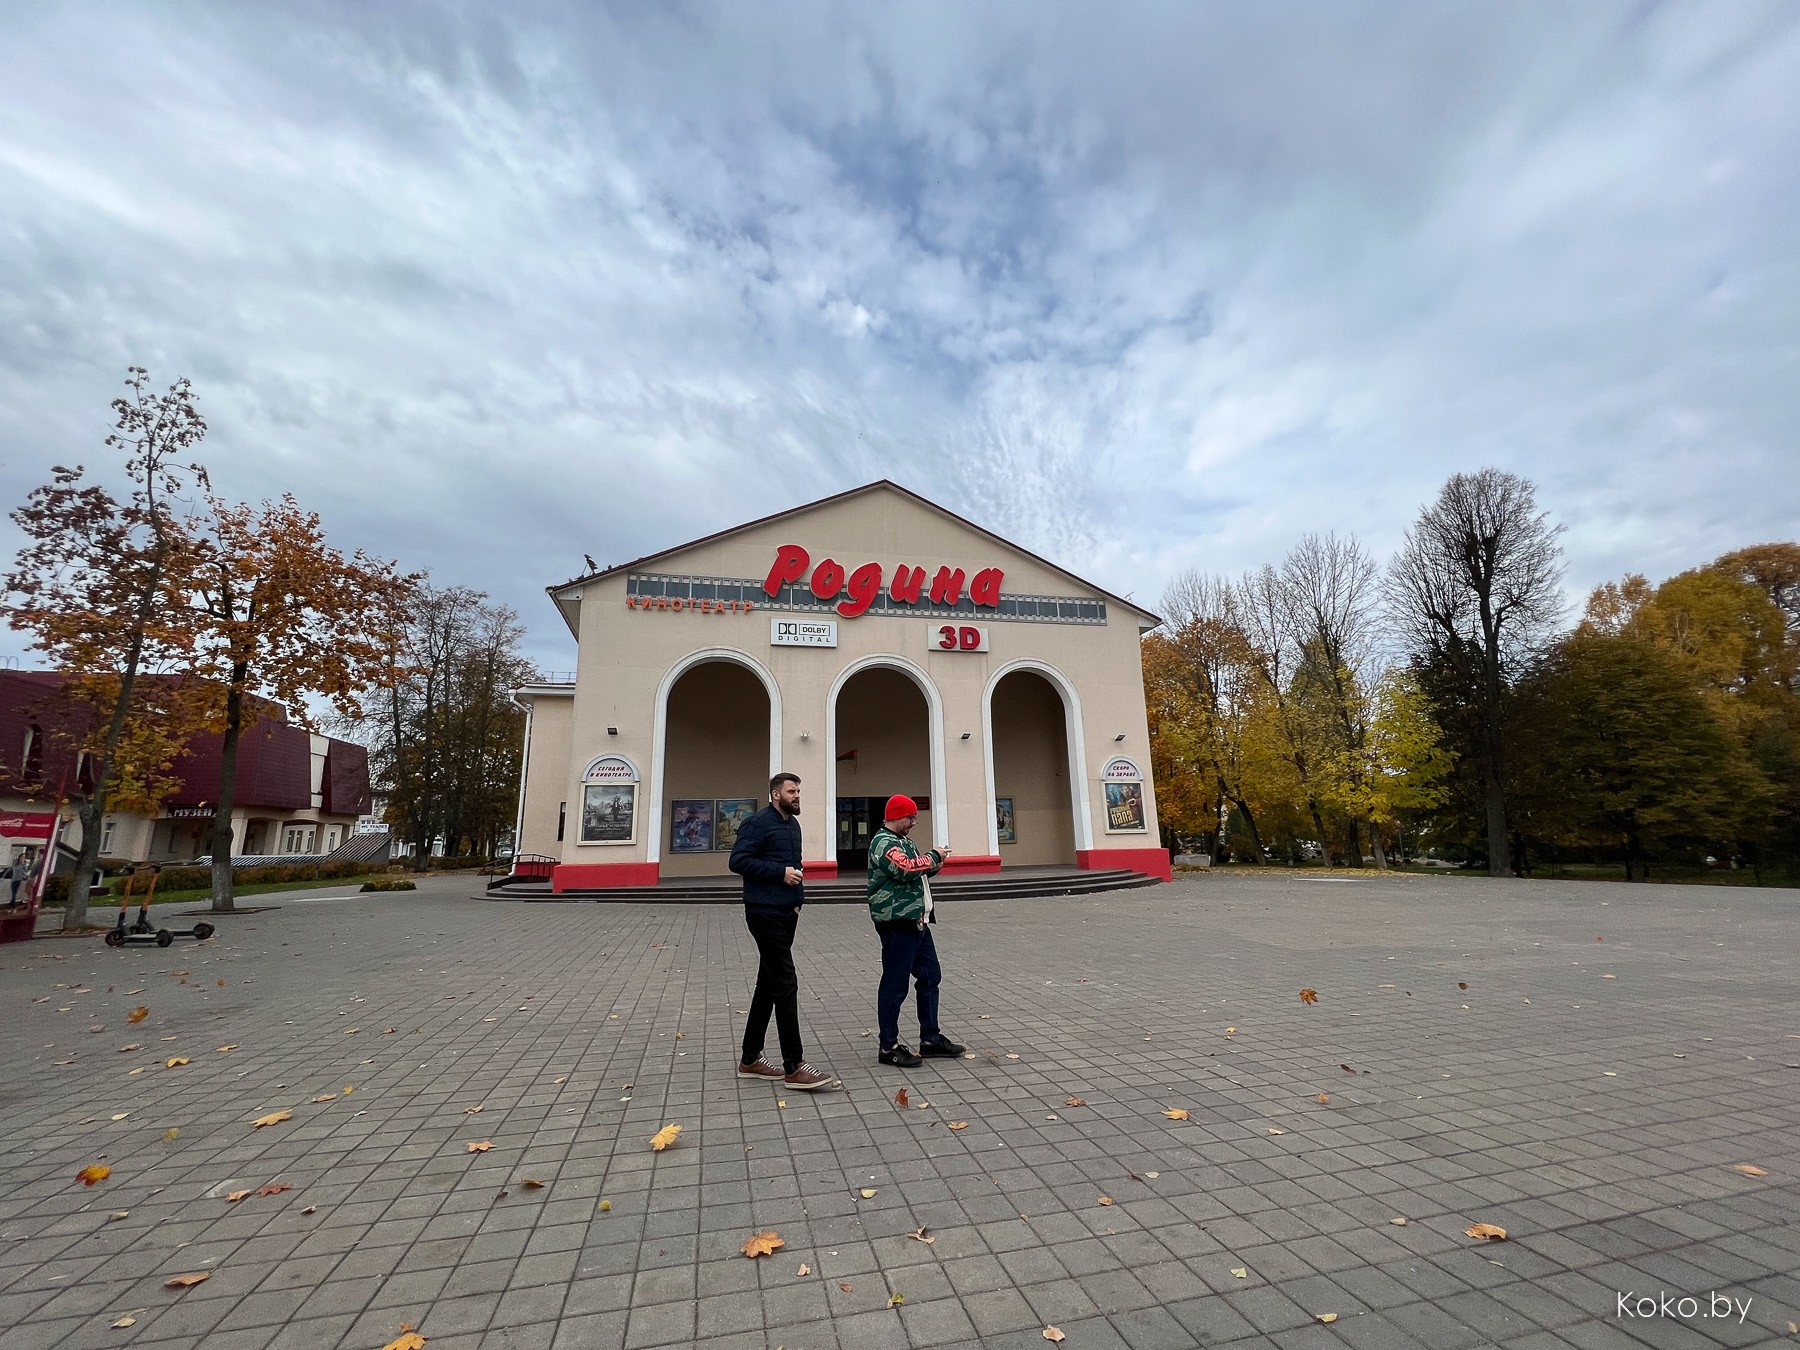
[(947, 905), (974, 1058), (913, 1071), (875, 1066), (866, 911), (817, 905), (842, 1091), (806, 1096), (733, 1073), (740, 909), (475, 891), (0, 949), (0, 1350), (1795, 1341), (1800, 893)]

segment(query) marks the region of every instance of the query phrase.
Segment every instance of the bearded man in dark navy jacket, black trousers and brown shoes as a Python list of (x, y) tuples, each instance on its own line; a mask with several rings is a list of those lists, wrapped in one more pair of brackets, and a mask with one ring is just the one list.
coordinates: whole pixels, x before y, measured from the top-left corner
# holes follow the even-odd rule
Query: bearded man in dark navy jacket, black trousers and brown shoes
[[(799, 1040), (794, 931), (799, 927), (799, 907), (806, 904), (803, 857), (799, 776), (776, 774), (769, 779), (769, 805), (738, 828), (738, 842), (731, 850), (731, 869), (743, 877), (743, 922), (761, 952), (751, 1017), (743, 1024), (738, 1076), (779, 1080), (799, 1093), (812, 1093), (832, 1087), (837, 1080), (806, 1064)], [(776, 1017), (776, 1035), (781, 1040), (779, 1069), (763, 1060), (769, 1013)]]

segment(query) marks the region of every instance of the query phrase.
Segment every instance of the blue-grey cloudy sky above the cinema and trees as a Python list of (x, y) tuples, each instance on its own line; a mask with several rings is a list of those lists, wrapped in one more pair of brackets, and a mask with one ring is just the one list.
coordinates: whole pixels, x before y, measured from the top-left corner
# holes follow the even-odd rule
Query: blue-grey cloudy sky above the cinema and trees
[(583, 553), (877, 477), (1148, 601), (1386, 554), (1483, 464), (1575, 592), (1800, 522), (1782, 0), (4, 29), (0, 497), (104, 463), (128, 364), (187, 374), (221, 490), (486, 589), (547, 668)]

